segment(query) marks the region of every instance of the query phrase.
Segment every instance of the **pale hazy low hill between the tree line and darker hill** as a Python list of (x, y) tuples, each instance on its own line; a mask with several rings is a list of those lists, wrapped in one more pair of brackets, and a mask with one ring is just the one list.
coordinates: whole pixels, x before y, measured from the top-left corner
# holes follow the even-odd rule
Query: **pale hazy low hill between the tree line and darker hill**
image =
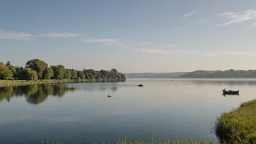
[(175, 72), (175, 73), (124, 73), (127, 79), (170, 79), (180, 78), (186, 72)]

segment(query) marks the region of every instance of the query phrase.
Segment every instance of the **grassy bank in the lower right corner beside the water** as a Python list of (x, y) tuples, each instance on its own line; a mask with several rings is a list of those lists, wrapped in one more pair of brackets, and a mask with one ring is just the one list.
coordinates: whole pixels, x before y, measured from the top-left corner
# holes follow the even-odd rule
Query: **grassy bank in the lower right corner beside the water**
[(215, 134), (226, 143), (256, 143), (256, 100), (223, 113), (216, 121)]

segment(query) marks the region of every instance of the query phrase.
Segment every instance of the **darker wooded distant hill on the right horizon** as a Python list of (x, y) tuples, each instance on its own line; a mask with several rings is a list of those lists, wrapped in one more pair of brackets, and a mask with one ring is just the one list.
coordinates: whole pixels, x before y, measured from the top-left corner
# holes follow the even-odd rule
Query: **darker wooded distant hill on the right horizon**
[(193, 71), (185, 73), (181, 78), (256, 78), (256, 70), (226, 70), (226, 71)]

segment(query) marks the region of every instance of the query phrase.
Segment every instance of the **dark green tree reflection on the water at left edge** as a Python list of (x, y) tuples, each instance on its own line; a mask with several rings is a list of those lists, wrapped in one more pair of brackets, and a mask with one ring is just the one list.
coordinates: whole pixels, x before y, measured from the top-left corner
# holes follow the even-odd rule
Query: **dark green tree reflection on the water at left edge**
[(62, 97), (65, 92), (73, 92), (76, 88), (63, 87), (60, 85), (52, 84), (33, 84), (20, 87), (0, 87), (0, 102), (7, 100), (8, 102), (12, 97), (23, 97), (25, 100), (33, 105), (38, 105), (44, 100), (47, 100), (49, 95), (53, 97)]

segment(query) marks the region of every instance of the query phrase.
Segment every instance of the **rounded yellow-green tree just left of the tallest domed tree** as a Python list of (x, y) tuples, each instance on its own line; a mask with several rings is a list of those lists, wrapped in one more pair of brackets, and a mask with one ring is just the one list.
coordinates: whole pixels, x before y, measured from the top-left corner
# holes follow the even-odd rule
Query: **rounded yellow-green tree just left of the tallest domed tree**
[(17, 78), (21, 80), (37, 80), (38, 75), (36, 71), (33, 71), (31, 68), (24, 68), (23, 71), (18, 74)]

